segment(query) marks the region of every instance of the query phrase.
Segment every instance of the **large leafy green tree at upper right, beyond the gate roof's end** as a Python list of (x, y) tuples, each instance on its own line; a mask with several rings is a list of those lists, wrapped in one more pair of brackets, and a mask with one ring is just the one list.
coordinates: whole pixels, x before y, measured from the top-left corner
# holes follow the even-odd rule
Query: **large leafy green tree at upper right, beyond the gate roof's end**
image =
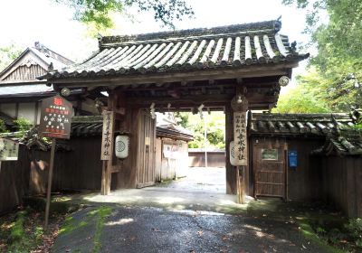
[[(307, 8), (307, 33), (318, 54), (310, 66), (319, 74), (330, 108), (348, 111), (362, 106), (362, 2), (354, 0), (283, 0)], [(327, 16), (323, 23), (320, 16)]]

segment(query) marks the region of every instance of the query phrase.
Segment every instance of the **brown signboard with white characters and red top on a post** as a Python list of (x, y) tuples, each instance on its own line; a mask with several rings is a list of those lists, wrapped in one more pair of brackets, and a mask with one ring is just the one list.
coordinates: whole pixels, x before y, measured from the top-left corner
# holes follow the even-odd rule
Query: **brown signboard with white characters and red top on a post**
[(61, 96), (42, 101), (39, 133), (43, 137), (69, 139), (71, 137), (71, 102)]

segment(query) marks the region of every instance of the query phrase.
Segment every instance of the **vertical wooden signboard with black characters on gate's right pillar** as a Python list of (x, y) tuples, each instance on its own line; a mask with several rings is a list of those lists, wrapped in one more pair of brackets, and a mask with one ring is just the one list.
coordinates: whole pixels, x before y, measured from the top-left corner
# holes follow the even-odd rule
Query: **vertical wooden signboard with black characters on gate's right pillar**
[(247, 162), (247, 136), (246, 112), (233, 113), (233, 143), (234, 162), (236, 166), (246, 166)]

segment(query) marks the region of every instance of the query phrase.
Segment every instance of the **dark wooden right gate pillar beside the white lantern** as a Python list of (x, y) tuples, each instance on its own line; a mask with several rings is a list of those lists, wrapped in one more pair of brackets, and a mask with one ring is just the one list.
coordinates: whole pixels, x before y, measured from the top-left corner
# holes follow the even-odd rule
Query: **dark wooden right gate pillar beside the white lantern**
[(236, 194), (236, 168), (230, 164), (230, 142), (233, 141), (233, 110), (225, 107), (225, 142), (226, 142), (226, 194)]

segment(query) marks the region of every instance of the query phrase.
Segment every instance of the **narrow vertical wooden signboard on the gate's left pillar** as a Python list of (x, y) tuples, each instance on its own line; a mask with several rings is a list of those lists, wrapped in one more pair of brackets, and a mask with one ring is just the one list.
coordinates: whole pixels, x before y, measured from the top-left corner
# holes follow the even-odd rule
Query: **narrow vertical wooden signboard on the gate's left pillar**
[(113, 117), (112, 111), (103, 112), (102, 144), (100, 149), (100, 160), (108, 161), (113, 152)]

